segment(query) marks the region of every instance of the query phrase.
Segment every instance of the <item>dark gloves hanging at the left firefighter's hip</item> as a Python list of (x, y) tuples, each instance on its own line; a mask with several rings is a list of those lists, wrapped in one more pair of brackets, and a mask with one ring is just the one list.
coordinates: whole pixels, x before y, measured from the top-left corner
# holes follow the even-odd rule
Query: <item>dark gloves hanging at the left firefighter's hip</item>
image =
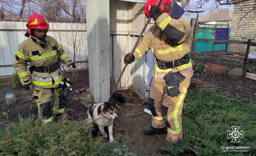
[(63, 79), (61, 81), (61, 84), (59, 85), (59, 88), (61, 91), (59, 92), (59, 98), (60, 100), (71, 100), (73, 97), (72, 88), (69, 88), (70, 85), (72, 85), (72, 82), (69, 81), (69, 79)]

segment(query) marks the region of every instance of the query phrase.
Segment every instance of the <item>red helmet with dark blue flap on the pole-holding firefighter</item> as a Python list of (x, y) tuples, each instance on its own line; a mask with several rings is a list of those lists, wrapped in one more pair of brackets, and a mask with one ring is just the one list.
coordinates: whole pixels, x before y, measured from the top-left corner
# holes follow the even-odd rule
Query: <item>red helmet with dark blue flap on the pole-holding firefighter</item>
[(171, 18), (179, 19), (184, 13), (184, 9), (180, 7), (179, 4), (176, 3), (175, 0), (147, 0), (145, 5), (145, 15), (149, 18), (149, 10), (152, 5), (160, 5), (158, 6), (162, 13), (168, 13)]

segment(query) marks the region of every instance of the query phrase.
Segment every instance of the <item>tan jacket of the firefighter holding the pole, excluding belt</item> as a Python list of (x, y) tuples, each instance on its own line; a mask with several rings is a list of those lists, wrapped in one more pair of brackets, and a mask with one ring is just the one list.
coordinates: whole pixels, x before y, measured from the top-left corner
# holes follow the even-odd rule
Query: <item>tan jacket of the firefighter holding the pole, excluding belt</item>
[[(161, 61), (173, 61), (182, 58), (190, 52), (190, 33), (191, 26), (186, 19), (172, 19), (167, 13), (163, 13), (137, 45), (133, 53), (135, 61), (145, 55), (149, 49)], [(155, 81), (164, 82), (163, 76), (169, 71), (188, 70), (189, 72), (184, 72), (188, 73), (186, 77), (192, 77), (193, 70), (191, 68), (191, 60), (188, 64), (179, 66), (175, 70), (171, 68), (163, 70), (155, 64), (153, 76), (155, 77)]]

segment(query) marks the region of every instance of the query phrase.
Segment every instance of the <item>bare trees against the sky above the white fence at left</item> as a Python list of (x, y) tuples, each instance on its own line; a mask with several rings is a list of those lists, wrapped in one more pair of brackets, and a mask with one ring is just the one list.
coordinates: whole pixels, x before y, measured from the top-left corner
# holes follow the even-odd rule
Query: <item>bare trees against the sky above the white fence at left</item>
[(85, 0), (0, 0), (0, 5), (7, 19), (27, 19), (37, 12), (50, 21), (85, 21)]

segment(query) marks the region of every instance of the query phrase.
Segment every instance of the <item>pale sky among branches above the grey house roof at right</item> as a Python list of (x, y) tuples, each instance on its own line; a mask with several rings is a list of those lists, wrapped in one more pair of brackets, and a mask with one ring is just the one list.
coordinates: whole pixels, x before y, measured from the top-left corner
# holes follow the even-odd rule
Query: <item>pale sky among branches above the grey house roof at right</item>
[[(198, 1), (198, 0), (190, 0), (189, 6), (196, 5), (196, 4), (197, 4), (197, 1)], [(211, 9), (216, 10), (216, 7), (214, 7), (214, 4), (215, 4), (215, 3), (214, 3), (214, 0), (209, 0), (209, 2), (207, 2), (206, 4), (204, 4), (202, 9), (198, 9), (198, 11), (199, 11), (199, 10), (205, 10), (204, 12), (199, 13), (199, 16), (200, 16), (200, 15), (203, 15), (203, 14), (205, 14), (205, 13), (209, 13), (209, 12), (211, 11)], [(212, 8), (212, 7), (214, 7), (214, 8)], [(233, 10), (233, 5), (222, 5), (222, 6), (219, 7), (219, 9), (226, 9), (226, 8), (228, 8), (229, 10)], [(210, 9), (210, 10), (206, 10), (206, 9)], [(185, 9), (185, 10), (186, 10), (186, 9)], [(190, 8), (190, 10), (192, 10), (192, 8)], [(196, 18), (196, 14), (197, 14), (197, 13), (192, 13), (192, 14), (190, 15), (190, 17), (191, 17), (191, 18)], [(183, 17), (188, 18), (189, 16), (187, 16), (187, 15), (184, 14)]]

